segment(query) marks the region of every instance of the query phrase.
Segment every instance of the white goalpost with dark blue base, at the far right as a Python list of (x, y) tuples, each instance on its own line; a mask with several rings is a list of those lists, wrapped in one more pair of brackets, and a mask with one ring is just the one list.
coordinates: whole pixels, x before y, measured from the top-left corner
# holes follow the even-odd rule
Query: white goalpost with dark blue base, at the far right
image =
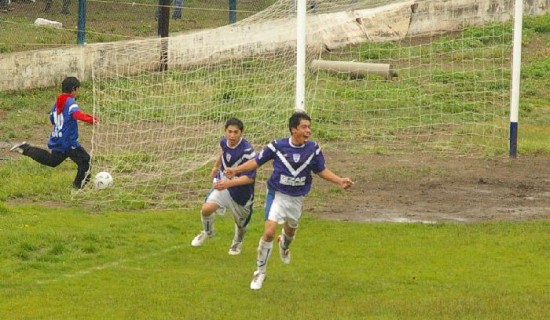
[(510, 157), (517, 156), (519, 85), (521, 75), (521, 32), (523, 25), (523, 0), (515, 0), (514, 47), (512, 51), (512, 93), (510, 98)]

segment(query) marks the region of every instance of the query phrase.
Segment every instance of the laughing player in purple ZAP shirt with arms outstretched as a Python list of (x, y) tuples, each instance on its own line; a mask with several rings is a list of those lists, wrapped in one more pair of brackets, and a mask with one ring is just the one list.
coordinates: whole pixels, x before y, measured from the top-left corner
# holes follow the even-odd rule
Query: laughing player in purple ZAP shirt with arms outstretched
[(266, 278), (267, 262), (273, 249), (277, 225), (283, 224), (282, 234), (277, 238), (279, 255), (283, 263), (290, 263), (290, 243), (294, 240), (298, 221), (302, 214), (304, 196), (311, 188), (311, 173), (340, 185), (351, 187), (349, 178), (342, 178), (325, 167), (325, 159), (319, 145), (309, 140), (311, 118), (303, 112), (294, 113), (288, 122), (291, 136), (272, 141), (254, 159), (238, 166), (227, 168), (226, 177), (255, 170), (273, 160), (273, 173), (267, 183), (264, 233), (258, 245), (257, 269), (250, 289), (259, 290)]

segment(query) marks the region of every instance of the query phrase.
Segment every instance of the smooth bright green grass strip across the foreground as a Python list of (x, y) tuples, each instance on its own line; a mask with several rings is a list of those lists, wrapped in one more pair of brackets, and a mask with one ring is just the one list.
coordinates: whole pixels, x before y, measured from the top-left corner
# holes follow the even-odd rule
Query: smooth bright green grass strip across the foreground
[[(95, 213), (0, 205), (0, 314), (17, 319), (544, 319), (548, 222), (357, 224), (305, 215), (293, 261), (274, 252), (249, 288), (261, 215), (243, 254), (197, 210)], [(31, 307), (32, 306), (32, 307)]]

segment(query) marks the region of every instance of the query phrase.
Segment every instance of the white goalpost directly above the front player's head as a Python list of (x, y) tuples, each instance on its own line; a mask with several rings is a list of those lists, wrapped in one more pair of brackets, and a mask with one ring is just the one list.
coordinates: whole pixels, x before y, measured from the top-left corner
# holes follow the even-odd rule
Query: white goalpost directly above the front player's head
[(296, 111), (305, 111), (306, 95), (306, 4), (298, 0), (296, 15)]

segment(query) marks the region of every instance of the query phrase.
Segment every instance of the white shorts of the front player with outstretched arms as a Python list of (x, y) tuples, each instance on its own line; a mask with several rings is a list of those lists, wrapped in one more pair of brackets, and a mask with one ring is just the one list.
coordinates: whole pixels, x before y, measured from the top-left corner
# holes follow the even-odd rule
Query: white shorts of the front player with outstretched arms
[(265, 219), (279, 224), (287, 222), (291, 228), (298, 228), (302, 216), (304, 196), (289, 196), (268, 188), (265, 199)]

